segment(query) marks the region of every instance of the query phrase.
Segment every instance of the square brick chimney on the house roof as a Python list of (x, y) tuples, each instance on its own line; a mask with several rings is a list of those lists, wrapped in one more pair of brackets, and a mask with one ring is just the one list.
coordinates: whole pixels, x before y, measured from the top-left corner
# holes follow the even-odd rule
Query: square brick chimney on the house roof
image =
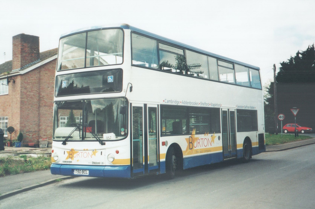
[(39, 37), (24, 33), (12, 37), (12, 70), (39, 59)]

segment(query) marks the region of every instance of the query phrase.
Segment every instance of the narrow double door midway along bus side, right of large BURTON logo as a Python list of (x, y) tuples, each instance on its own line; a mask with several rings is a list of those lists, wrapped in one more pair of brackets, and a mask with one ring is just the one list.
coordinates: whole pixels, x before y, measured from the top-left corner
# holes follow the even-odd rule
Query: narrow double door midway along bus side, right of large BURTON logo
[(235, 109), (222, 109), (223, 157), (236, 156)]

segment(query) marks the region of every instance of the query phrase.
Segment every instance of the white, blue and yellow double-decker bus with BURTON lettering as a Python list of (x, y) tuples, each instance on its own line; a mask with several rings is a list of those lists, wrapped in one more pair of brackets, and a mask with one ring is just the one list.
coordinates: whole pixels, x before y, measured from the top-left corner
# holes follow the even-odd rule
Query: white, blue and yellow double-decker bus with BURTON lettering
[(60, 38), (51, 173), (136, 178), (265, 151), (260, 69), (130, 25)]

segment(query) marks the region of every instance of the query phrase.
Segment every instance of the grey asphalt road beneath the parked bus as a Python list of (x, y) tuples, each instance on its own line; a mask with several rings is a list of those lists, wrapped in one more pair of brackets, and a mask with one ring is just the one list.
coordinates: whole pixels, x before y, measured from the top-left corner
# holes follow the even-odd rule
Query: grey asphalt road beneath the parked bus
[(315, 144), (185, 170), (173, 180), (78, 177), (6, 198), (0, 208), (314, 208)]

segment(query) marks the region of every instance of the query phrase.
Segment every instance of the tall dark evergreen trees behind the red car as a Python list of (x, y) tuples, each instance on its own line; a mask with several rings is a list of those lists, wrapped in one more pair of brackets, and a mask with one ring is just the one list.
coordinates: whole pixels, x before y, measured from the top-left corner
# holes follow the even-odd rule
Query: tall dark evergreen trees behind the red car
[[(315, 48), (314, 44), (305, 51), (298, 51), (294, 57), (280, 63), (276, 76), (278, 113), (285, 115), (284, 124), (294, 123), (290, 112), (300, 109), (297, 123), (315, 128)], [(265, 98), (265, 127), (274, 127), (274, 93), (271, 82)], [(273, 116), (272, 116), (273, 114)], [(274, 119), (273, 119), (274, 120)], [(279, 127), (280, 129), (280, 127)], [(280, 129), (281, 130), (281, 129)]]

